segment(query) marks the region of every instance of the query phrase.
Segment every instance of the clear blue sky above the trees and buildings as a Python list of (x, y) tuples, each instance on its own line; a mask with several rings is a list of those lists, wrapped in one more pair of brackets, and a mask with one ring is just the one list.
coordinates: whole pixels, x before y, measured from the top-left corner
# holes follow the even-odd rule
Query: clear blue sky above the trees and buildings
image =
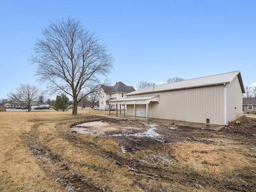
[[(255, 0), (0, 0), (0, 98), (38, 86), (28, 64), (40, 28), (79, 18), (114, 57), (112, 85), (165, 83), (240, 70), (256, 85)], [(44, 89), (44, 86), (40, 86)], [(56, 98), (51, 96), (50, 98)]]

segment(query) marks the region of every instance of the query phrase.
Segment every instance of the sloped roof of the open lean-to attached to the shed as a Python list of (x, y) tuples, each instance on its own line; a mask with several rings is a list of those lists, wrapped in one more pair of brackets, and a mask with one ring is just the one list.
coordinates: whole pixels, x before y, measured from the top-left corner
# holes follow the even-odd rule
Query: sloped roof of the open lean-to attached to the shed
[(132, 104), (149, 104), (150, 102), (158, 102), (159, 103), (159, 95), (125, 98), (125, 99), (110, 101), (109, 104), (132, 105)]

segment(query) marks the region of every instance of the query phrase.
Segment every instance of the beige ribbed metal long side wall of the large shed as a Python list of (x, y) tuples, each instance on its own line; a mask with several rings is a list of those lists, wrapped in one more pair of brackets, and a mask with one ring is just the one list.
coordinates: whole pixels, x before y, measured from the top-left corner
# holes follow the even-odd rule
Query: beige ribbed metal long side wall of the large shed
[[(150, 102), (149, 118), (199, 123), (206, 123), (206, 119), (209, 119), (210, 124), (224, 124), (223, 85), (154, 92), (156, 94), (159, 94), (159, 104)], [(149, 93), (139, 96), (152, 95)], [(127, 106), (127, 115), (134, 115), (133, 106)]]

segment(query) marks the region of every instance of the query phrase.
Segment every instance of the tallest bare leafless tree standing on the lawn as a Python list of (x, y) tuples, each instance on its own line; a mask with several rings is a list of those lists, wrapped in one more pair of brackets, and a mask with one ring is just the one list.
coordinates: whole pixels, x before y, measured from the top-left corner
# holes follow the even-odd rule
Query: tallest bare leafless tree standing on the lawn
[(29, 59), (38, 64), (38, 81), (47, 83), (51, 93), (65, 92), (73, 98), (72, 114), (77, 114), (78, 99), (83, 90), (86, 95), (97, 92), (102, 85), (100, 78), (110, 73), (113, 58), (106, 46), (100, 44), (95, 33), (85, 30), (73, 18), (51, 22), (37, 39), (35, 55)]

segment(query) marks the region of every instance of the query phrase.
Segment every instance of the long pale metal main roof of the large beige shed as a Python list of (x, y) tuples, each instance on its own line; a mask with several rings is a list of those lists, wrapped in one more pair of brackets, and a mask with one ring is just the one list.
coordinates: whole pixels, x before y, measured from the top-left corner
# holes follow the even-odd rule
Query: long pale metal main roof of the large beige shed
[(180, 89), (189, 89), (189, 88), (196, 88), (196, 87), (221, 85), (224, 83), (232, 82), (232, 80), (234, 80), (236, 76), (238, 76), (242, 92), (245, 93), (241, 73), (240, 71), (235, 71), (235, 72), (206, 76), (206, 77), (195, 78), (190, 80), (184, 80), (179, 82), (160, 84), (160, 85), (156, 85), (154, 90), (153, 90), (154, 86), (150, 86), (150, 87), (146, 87), (146, 88), (128, 93), (126, 95), (136, 95), (136, 94), (143, 94), (143, 93), (163, 92), (163, 91), (169, 91), (169, 90), (180, 90)]

